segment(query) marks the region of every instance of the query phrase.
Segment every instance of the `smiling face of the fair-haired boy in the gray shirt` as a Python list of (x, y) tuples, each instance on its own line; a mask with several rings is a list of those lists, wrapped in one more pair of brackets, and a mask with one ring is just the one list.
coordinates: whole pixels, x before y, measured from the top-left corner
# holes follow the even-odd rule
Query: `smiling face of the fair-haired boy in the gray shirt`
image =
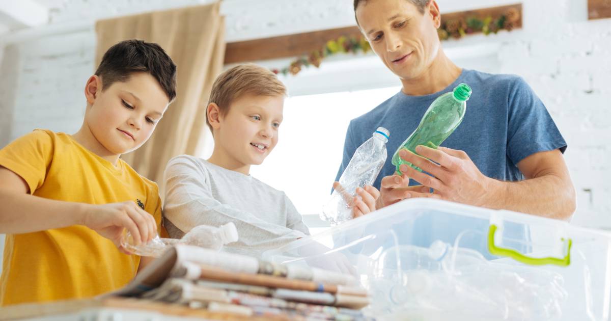
[(243, 165), (258, 165), (278, 142), (283, 96), (244, 95), (233, 100), (219, 117), (214, 138), (227, 157)]

